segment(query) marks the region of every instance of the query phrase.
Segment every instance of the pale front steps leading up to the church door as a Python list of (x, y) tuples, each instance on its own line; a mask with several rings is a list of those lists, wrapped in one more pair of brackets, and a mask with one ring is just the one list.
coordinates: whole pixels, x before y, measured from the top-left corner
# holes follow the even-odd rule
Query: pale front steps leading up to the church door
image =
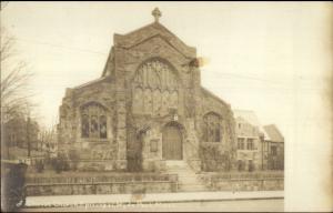
[(169, 174), (178, 174), (179, 192), (206, 191), (204, 184), (199, 180), (198, 174), (185, 161), (167, 161), (167, 172)]

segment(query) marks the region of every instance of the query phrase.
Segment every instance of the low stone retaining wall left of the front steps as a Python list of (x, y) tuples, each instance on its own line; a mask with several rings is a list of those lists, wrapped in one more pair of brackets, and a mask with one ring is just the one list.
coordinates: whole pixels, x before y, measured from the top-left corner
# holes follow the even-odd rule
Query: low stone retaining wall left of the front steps
[(99, 176), (27, 178), (27, 195), (128, 194), (176, 191), (176, 176), (113, 174)]

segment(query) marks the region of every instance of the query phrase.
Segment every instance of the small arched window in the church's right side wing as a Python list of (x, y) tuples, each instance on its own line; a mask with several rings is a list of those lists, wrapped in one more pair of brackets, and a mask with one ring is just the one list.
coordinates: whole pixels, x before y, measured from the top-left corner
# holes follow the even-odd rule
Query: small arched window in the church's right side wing
[(220, 142), (221, 141), (221, 116), (216, 113), (210, 112), (203, 116), (203, 134), (204, 142)]

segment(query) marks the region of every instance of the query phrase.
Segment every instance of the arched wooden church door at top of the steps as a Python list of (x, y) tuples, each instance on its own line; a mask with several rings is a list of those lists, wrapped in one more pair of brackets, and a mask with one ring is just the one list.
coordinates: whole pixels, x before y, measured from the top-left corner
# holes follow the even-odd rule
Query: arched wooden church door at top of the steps
[(169, 123), (162, 132), (162, 155), (165, 160), (182, 160), (182, 132), (176, 123)]

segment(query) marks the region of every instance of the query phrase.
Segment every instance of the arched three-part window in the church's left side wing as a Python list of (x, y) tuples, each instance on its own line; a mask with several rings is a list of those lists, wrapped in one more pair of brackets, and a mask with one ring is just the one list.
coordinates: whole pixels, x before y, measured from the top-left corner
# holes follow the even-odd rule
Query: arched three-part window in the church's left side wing
[(107, 110), (91, 102), (81, 108), (81, 136), (91, 139), (108, 138)]

